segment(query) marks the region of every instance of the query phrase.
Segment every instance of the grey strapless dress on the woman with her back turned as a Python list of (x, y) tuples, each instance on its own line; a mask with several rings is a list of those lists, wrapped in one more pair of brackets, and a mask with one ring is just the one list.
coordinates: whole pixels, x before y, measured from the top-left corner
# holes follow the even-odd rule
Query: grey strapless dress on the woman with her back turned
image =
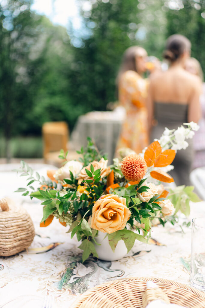
[[(164, 128), (176, 129), (183, 123), (187, 123), (187, 104), (177, 103), (154, 103), (155, 119), (157, 125), (152, 128), (151, 140), (154, 138), (160, 139)], [(190, 185), (189, 173), (191, 172), (191, 164), (193, 161), (193, 146), (192, 140), (186, 140), (189, 146), (186, 150), (177, 152), (173, 161), (174, 170), (169, 174), (174, 178), (176, 185)]]

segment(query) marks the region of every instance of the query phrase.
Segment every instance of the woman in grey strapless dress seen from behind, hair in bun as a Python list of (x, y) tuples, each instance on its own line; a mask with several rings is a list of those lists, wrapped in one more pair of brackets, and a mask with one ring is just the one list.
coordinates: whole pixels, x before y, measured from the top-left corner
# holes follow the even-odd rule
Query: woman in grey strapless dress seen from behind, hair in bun
[[(164, 58), (170, 61), (170, 67), (167, 71), (153, 74), (150, 78), (148, 122), (151, 141), (159, 139), (165, 127), (177, 129), (183, 123), (197, 123), (200, 119), (200, 80), (183, 69), (185, 59), (190, 56), (190, 50), (191, 43), (184, 36), (175, 34), (169, 37)], [(156, 125), (152, 127), (154, 122)], [(189, 143), (188, 148), (176, 153), (172, 163), (174, 170), (169, 172), (177, 186), (190, 185), (193, 147), (191, 139), (186, 141)]]

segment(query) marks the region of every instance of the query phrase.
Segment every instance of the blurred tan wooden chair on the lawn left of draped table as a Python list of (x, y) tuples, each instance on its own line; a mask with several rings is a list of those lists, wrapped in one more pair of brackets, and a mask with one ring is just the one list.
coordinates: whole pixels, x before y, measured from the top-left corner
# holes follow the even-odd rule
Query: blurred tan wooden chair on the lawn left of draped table
[(67, 151), (69, 128), (66, 122), (46, 122), (42, 126), (44, 152), (46, 163), (60, 167), (62, 159), (58, 157), (61, 149)]

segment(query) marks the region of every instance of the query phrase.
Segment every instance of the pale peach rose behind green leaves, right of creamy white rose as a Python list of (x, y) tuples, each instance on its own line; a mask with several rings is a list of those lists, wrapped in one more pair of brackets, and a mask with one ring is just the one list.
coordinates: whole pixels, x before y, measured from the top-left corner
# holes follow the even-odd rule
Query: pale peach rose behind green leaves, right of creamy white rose
[(93, 177), (89, 177), (85, 171), (85, 169), (90, 171), (91, 164), (93, 165), (94, 171), (96, 171), (97, 169), (101, 169), (101, 179), (110, 173), (110, 167), (107, 167), (108, 160), (104, 160), (104, 158), (102, 157), (101, 160), (94, 160), (92, 163), (90, 163), (88, 166), (84, 167), (81, 170), (77, 177), (78, 184), (81, 184), (83, 180), (93, 180)]

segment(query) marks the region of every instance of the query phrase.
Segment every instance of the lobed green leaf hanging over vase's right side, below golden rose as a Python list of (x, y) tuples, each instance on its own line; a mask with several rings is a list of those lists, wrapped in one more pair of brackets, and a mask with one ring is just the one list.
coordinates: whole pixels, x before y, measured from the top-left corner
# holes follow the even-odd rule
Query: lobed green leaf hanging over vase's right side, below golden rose
[(127, 229), (118, 230), (116, 232), (108, 234), (108, 241), (113, 252), (115, 251), (116, 245), (120, 240), (124, 241), (125, 246), (128, 249), (128, 252), (133, 247), (135, 240), (147, 243), (146, 238), (144, 238), (142, 235), (136, 234)]

